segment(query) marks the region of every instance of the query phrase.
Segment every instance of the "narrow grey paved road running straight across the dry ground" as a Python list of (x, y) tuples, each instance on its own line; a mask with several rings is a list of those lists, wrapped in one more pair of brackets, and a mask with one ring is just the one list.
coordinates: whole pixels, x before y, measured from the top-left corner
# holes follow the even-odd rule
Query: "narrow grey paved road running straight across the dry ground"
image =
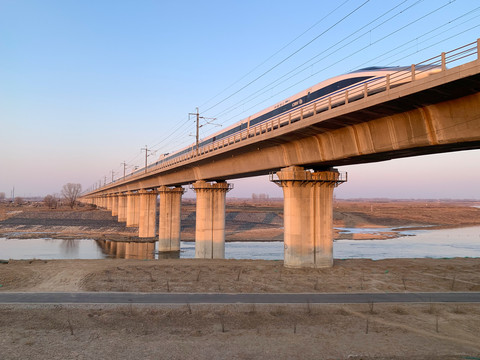
[(364, 304), (479, 303), (480, 292), (359, 294), (8, 293), (0, 304)]

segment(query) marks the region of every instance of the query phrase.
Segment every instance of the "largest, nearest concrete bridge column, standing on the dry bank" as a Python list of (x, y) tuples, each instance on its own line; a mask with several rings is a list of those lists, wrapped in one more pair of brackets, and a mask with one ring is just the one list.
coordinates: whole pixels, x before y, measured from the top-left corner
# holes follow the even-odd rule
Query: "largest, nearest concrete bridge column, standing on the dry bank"
[(272, 180), (284, 194), (284, 265), (292, 268), (333, 266), (333, 190), (335, 169), (310, 172), (290, 166)]

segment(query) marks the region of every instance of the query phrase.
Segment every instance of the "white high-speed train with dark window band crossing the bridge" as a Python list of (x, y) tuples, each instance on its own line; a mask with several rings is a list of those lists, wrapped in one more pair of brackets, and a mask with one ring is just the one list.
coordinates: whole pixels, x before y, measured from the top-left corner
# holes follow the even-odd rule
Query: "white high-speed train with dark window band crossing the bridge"
[[(441, 67), (436, 65), (417, 66), (415, 68), (415, 79), (423, 78), (440, 71)], [(271, 122), (272, 120), (275, 121), (279, 117), (285, 115), (299, 114), (299, 110), (302, 108), (308, 107), (311, 111), (310, 114), (313, 114), (312, 104), (314, 103), (324, 104), (323, 108), (322, 106), (317, 107), (316, 111), (319, 112), (326, 110), (328, 107), (342, 105), (347, 99), (351, 102), (362, 98), (365, 89), (367, 89), (369, 95), (383, 91), (387, 86), (387, 76), (389, 77), (388, 83), (390, 88), (402, 85), (412, 81), (411, 67), (368, 67), (344, 75), (335, 76), (202, 139), (199, 142), (199, 147), (201, 148), (213, 142), (236, 135), (246, 129)], [(327, 107), (325, 106), (325, 103), (329, 98), (334, 100), (333, 102), (330, 100)], [(303, 116), (308, 116), (308, 114), (304, 114)], [(290, 119), (290, 122), (298, 119), (299, 118)], [(283, 125), (279, 124), (279, 126)], [(185, 155), (194, 149), (195, 145), (190, 145), (174, 153), (162, 155), (157, 162), (149, 165), (148, 168), (161, 165), (164, 162)], [(140, 169), (135, 173), (142, 171), (145, 171), (145, 168)]]

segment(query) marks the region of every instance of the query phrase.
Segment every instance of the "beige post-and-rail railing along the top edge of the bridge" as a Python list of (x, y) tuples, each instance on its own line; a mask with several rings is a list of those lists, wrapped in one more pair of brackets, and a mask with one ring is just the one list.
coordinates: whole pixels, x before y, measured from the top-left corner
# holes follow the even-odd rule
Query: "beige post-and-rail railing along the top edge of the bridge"
[[(432, 72), (446, 71), (447, 65), (457, 65), (459, 62), (466, 63), (475, 57), (476, 59), (474, 60), (480, 60), (480, 39), (477, 39), (477, 41), (471, 42), (457, 49), (443, 52), (438, 56), (432, 57), (418, 64), (413, 64), (410, 68), (402, 68), (401, 70), (391, 73), (385, 77), (376, 78), (373, 81), (366, 81), (358, 84), (357, 86), (353, 86), (348, 90), (334, 93), (330, 96), (323, 97), (303, 106), (298, 106), (286, 114), (272, 117), (261, 124), (249, 126), (247, 129), (237, 132), (236, 134), (232, 134), (231, 136), (221, 140), (214, 141), (210, 144), (199, 147), (198, 149), (192, 145), (191, 149), (181, 156), (168, 161), (163, 161), (160, 164), (156, 163), (150, 165), (147, 169), (147, 172), (170, 168), (179, 163), (208, 155), (227, 146), (251, 139), (252, 137), (276, 131), (284, 126), (288, 126), (310, 116), (331, 111), (332, 109), (349, 104), (351, 102), (368, 98), (369, 96), (377, 93), (389, 91), (392, 88), (411, 83), (428, 76)], [(144, 173), (144, 169), (139, 171)]]

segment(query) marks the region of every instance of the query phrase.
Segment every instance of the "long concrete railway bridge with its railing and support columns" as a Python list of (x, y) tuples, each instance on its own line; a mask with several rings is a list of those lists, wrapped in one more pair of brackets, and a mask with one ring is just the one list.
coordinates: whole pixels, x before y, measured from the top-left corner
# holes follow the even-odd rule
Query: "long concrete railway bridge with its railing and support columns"
[[(419, 65), (441, 71), (420, 77)], [(480, 148), (480, 40), (390, 76), (300, 107), (82, 195), (112, 211), (160, 252), (180, 250), (184, 185), (196, 192), (195, 256), (225, 255), (228, 180), (270, 174), (284, 192), (284, 264), (333, 264), (334, 167)], [(448, 171), (448, 169), (445, 169)], [(156, 233), (157, 197), (159, 223)]]

